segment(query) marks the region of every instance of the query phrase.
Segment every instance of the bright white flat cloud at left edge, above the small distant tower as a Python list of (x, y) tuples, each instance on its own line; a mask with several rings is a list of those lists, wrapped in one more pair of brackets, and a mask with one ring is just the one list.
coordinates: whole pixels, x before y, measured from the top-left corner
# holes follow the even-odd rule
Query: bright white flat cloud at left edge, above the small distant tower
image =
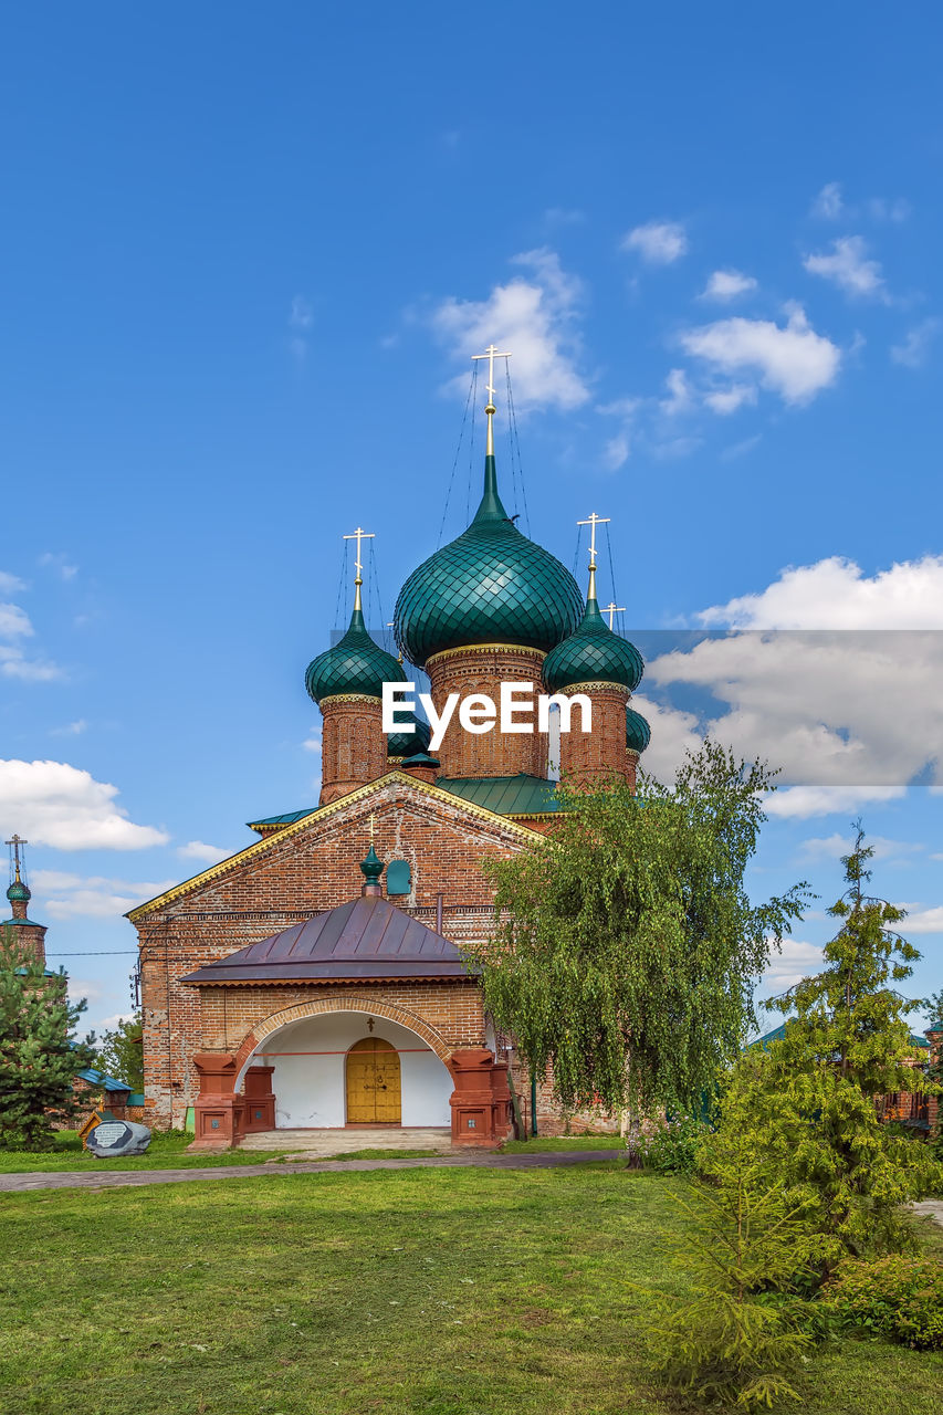
[(115, 804), (118, 787), (65, 761), (0, 761), (0, 825), (59, 850), (142, 850), (170, 836), (135, 825)]

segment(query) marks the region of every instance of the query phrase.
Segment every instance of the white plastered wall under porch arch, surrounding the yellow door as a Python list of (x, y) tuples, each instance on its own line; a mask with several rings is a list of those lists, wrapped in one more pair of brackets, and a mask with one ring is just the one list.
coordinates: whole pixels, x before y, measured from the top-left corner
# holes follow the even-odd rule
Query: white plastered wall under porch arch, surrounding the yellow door
[[(273, 1065), (278, 1129), (338, 1126), (347, 1121), (344, 1063), (354, 1041), (382, 1037), (399, 1053), (402, 1125), (450, 1125), (455, 1088), (447, 1067), (415, 1032), (365, 1012), (327, 1012), (273, 1032), (246, 1065)], [(239, 1081), (241, 1085), (241, 1081)]]

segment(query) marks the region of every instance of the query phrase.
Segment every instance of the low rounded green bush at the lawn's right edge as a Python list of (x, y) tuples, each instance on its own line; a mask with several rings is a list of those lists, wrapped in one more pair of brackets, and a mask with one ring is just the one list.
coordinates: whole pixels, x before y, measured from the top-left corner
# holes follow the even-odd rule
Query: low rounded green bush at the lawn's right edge
[(886, 1336), (918, 1351), (943, 1348), (943, 1266), (892, 1255), (840, 1269), (823, 1300), (842, 1324)]

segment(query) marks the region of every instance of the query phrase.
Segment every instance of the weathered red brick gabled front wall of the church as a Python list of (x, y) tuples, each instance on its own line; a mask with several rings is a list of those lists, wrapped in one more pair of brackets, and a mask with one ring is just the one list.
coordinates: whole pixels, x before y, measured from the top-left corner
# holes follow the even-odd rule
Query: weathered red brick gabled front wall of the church
[[(191, 1057), (205, 1044), (201, 1000), (198, 989), (184, 986), (181, 976), (355, 899), (371, 815), (379, 857), (409, 862), (412, 893), (402, 900), (406, 910), (435, 928), (436, 896), (442, 893), (446, 937), (462, 942), (486, 935), (491, 891), (481, 862), (507, 857), (520, 848), (521, 831), (510, 824), (476, 819), (457, 801), (439, 799), (412, 782), (387, 780), (360, 799), (338, 804), (326, 819), (314, 815), (299, 828), (269, 836), (248, 859), (224, 863), (207, 872), (210, 877), (191, 891), (136, 914), (149, 1119), (183, 1124), (198, 1090)], [(273, 989), (258, 992), (268, 995), (259, 1003), (268, 1009), (265, 1015), (275, 1010)], [(459, 1005), (457, 992), (452, 1005)], [(218, 1006), (224, 1006), (222, 999)], [(480, 1002), (476, 1006), (480, 1009)], [(453, 1015), (449, 1026), (459, 1026), (459, 1020)], [(476, 1026), (480, 1033), (480, 1023)], [(228, 1046), (238, 1046), (235, 1030), (227, 1022)], [(480, 1044), (479, 1033), (474, 1044)]]

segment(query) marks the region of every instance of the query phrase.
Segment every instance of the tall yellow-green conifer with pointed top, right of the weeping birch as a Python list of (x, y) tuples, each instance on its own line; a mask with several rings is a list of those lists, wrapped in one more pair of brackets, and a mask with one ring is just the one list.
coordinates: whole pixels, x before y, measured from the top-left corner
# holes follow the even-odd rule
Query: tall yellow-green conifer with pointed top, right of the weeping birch
[(878, 1114), (878, 1097), (929, 1082), (906, 1022), (919, 1003), (895, 986), (920, 955), (893, 928), (903, 910), (865, 891), (872, 853), (857, 824), (825, 966), (770, 1003), (794, 1016), (782, 1040), (738, 1063), (702, 1150), (705, 1174), (731, 1191), (762, 1160), (763, 1183), (804, 1217), (801, 1259), (820, 1279), (847, 1254), (905, 1247), (901, 1206), (943, 1179), (929, 1146)]

